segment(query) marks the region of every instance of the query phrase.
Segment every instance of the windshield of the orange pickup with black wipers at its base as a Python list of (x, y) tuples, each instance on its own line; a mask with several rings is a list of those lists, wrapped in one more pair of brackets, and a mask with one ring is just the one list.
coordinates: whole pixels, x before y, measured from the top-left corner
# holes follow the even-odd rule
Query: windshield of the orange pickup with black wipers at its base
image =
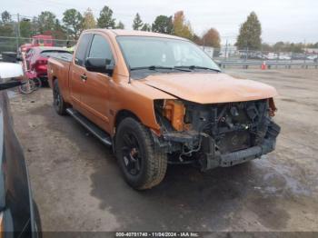
[(131, 69), (149, 66), (199, 66), (220, 70), (197, 45), (185, 40), (147, 36), (117, 36)]

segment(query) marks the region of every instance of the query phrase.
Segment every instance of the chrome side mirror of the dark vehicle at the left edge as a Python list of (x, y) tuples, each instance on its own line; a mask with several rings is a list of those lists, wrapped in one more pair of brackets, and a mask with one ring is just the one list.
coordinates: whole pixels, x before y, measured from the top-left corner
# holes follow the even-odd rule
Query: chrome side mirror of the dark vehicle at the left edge
[(21, 85), (23, 75), (20, 64), (0, 63), (0, 90)]

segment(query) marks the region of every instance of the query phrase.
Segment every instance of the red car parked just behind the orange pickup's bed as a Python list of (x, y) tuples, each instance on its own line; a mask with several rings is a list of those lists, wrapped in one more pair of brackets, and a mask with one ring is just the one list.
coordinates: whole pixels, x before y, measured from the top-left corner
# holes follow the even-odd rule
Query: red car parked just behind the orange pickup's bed
[(49, 57), (67, 57), (72, 55), (67, 49), (61, 47), (32, 47), (25, 55), (26, 70), (31, 71), (36, 77), (47, 80), (47, 59)]

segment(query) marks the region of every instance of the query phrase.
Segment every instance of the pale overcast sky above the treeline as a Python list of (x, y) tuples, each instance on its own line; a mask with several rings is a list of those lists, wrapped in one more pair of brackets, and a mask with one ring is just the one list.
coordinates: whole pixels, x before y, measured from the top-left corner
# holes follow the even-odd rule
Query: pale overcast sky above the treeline
[(104, 5), (114, 11), (114, 18), (126, 29), (132, 28), (134, 15), (139, 13), (144, 23), (153, 23), (157, 15), (174, 15), (183, 10), (194, 33), (203, 35), (211, 27), (221, 35), (222, 44), (234, 44), (240, 25), (252, 11), (262, 24), (263, 42), (318, 42), (317, 0), (1, 0), (0, 12), (13, 15), (39, 15), (52, 11), (62, 19), (65, 9), (81, 13), (90, 7), (98, 17)]

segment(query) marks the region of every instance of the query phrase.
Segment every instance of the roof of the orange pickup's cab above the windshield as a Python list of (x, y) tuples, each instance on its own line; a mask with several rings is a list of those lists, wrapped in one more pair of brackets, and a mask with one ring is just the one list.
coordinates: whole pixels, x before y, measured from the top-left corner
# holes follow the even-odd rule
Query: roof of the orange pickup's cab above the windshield
[(149, 36), (149, 37), (164, 37), (164, 38), (171, 38), (171, 39), (179, 39), (179, 40), (186, 40), (182, 37), (178, 37), (175, 35), (166, 35), (166, 34), (160, 34), (160, 33), (154, 33), (154, 32), (144, 32), (144, 31), (133, 31), (133, 30), (119, 30), (119, 29), (89, 29), (85, 30), (85, 32), (90, 31), (103, 31), (107, 34), (113, 34), (113, 35), (120, 35), (120, 36)]

